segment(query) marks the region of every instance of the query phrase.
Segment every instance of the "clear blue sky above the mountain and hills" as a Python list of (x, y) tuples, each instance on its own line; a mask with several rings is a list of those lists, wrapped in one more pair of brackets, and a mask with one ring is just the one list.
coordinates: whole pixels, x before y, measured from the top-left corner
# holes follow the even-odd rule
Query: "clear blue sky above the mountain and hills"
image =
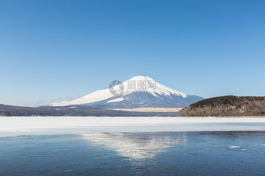
[(265, 1), (1, 1), (0, 61), (0, 104), (73, 100), (133, 76), (204, 98), (265, 96)]

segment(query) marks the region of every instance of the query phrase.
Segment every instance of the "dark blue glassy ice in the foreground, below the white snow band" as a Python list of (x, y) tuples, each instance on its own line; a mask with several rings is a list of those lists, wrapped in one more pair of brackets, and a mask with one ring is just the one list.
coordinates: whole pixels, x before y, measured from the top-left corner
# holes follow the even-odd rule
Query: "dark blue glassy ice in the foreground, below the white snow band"
[(264, 175), (262, 131), (0, 138), (0, 175)]

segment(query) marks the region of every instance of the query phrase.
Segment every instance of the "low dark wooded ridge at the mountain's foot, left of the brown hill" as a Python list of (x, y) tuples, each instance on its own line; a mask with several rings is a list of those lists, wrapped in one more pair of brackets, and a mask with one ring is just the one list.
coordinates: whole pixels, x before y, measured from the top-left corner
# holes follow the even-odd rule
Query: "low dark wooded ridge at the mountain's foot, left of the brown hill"
[(0, 104), (0, 116), (177, 116), (178, 112), (134, 112), (86, 105), (21, 107)]

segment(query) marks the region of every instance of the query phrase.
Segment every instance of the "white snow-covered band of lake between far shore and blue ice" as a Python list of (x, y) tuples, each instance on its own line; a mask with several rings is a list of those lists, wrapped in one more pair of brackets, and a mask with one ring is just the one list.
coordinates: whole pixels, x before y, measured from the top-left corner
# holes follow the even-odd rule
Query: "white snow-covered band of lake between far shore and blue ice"
[(0, 117), (0, 137), (112, 132), (263, 130), (265, 118)]

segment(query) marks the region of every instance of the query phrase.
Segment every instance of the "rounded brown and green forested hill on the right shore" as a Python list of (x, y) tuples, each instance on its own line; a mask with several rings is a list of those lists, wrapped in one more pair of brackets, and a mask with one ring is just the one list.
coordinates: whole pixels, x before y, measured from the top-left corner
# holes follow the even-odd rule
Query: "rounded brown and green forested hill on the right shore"
[[(231, 107), (235, 106), (235, 107)], [(183, 108), (181, 116), (265, 116), (265, 96), (218, 96)]]

